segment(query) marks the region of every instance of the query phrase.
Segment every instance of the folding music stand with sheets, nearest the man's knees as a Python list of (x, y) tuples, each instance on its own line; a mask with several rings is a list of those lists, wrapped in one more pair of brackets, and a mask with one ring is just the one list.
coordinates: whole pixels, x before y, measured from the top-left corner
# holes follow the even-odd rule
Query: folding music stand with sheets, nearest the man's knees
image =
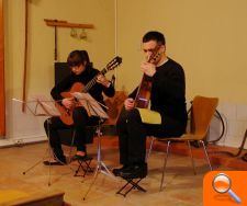
[[(106, 118), (109, 118), (108, 114), (100, 106), (102, 104), (97, 102), (90, 94), (75, 92), (75, 93), (72, 93), (72, 95), (81, 103), (81, 105), (85, 106), (85, 108), (87, 110), (89, 115), (93, 115), (93, 116), (99, 117), (99, 124), (98, 124), (97, 129), (96, 129), (96, 134), (97, 134), (97, 137), (98, 137), (97, 168), (94, 170), (93, 180), (92, 180), (91, 184), (88, 187), (88, 191), (86, 192), (86, 194), (83, 196), (83, 201), (85, 201), (87, 195), (91, 191), (92, 185), (96, 183), (96, 180), (97, 180), (99, 173), (103, 173), (103, 174), (105, 174), (105, 175), (108, 175), (108, 176), (110, 176), (114, 180), (116, 180), (116, 178), (111, 173), (111, 171), (108, 169), (108, 167), (105, 165), (105, 163), (102, 161), (102, 158), (101, 158), (101, 137), (103, 136), (102, 124)], [(105, 105), (102, 105), (102, 106), (106, 107)]]

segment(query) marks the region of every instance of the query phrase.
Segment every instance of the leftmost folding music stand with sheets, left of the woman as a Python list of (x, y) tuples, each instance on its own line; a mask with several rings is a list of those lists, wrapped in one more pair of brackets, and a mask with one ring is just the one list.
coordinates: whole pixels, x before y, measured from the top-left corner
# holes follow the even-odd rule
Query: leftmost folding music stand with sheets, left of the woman
[[(16, 99), (12, 99), (13, 101), (20, 102), (22, 104), (26, 105), (26, 108), (31, 112), (32, 115), (34, 116), (40, 116), (40, 117), (52, 117), (52, 116), (60, 116), (60, 113), (58, 112), (58, 110), (55, 107), (55, 101), (53, 100), (47, 100), (45, 96), (35, 96), (34, 100), (32, 101), (21, 101), (21, 100), (16, 100)], [(48, 118), (48, 127), (50, 125), (49, 118)], [(49, 131), (49, 129), (48, 129)], [(49, 144), (49, 133), (47, 134), (48, 137), (48, 148), (46, 149), (46, 153), (48, 151), (48, 158), (49, 161), (52, 160), (52, 156), (53, 150), (50, 148), (50, 144)], [(35, 162), (33, 165), (31, 165), (30, 168), (27, 168), (25, 171), (22, 172), (23, 175), (25, 175), (29, 171), (31, 171), (32, 169), (34, 169), (36, 165), (38, 165), (40, 163), (42, 163), (45, 160), (46, 157), (43, 157), (41, 160), (38, 160), (37, 162)], [(64, 163), (63, 163), (64, 164)], [(65, 164), (66, 165), (66, 164)], [(72, 170), (72, 168), (69, 167), (70, 170)], [(74, 171), (74, 170), (72, 170)], [(48, 171), (48, 186), (50, 186), (50, 165), (49, 165), (49, 171)]]

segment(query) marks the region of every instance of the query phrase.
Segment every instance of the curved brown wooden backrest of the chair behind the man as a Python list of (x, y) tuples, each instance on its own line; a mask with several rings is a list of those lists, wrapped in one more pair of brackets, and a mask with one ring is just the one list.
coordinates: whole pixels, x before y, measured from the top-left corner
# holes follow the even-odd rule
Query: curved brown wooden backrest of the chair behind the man
[(217, 98), (205, 98), (197, 95), (191, 108), (191, 134), (203, 139), (206, 136), (211, 119), (217, 107)]

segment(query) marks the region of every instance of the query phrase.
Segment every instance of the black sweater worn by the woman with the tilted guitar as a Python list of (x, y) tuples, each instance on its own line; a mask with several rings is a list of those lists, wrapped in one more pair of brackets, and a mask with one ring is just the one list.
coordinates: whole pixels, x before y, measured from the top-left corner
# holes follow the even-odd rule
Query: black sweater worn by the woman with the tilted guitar
[[(63, 100), (63, 96), (60, 95), (61, 92), (65, 91), (69, 91), (69, 89), (72, 87), (74, 83), (76, 82), (80, 82), (83, 85), (86, 85), (91, 79), (93, 79), (100, 71), (94, 69), (94, 68), (90, 68), (87, 67), (86, 70), (83, 72), (81, 72), (80, 75), (75, 75), (74, 72), (71, 72), (70, 76), (66, 77), (64, 80), (61, 80), (59, 83), (57, 83), (57, 85), (55, 85), (52, 91), (50, 91), (50, 95), (53, 96), (54, 100)], [(79, 92), (79, 91), (78, 91)], [(112, 84), (110, 84), (109, 88), (103, 87), (100, 83), (96, 83), (89, 91), (88, 93), (94, 98), (98, 102), (103, 103), (103, 95), (102, 92), (106, 95), (106, 96), (113, 96), (115, 93), (115, 90), (113, 88)]]

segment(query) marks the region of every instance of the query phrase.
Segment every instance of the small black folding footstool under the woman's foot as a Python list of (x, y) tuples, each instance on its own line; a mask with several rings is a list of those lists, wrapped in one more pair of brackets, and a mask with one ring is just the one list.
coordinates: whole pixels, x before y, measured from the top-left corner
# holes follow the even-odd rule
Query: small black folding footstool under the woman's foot
[[(77, 157), (76, 160), (79, 165), (78, 165), (78, 169), (76, 170), (74, 176), (83, 176), (85, 178), (88, 172), (93, 172), (92, 168), (90, 167), (92, 157), (90, 157), (90, 156), (86, 156), (83, 158)], [(78, 174), (80, 170), (83, 172), (82, 175)]]

